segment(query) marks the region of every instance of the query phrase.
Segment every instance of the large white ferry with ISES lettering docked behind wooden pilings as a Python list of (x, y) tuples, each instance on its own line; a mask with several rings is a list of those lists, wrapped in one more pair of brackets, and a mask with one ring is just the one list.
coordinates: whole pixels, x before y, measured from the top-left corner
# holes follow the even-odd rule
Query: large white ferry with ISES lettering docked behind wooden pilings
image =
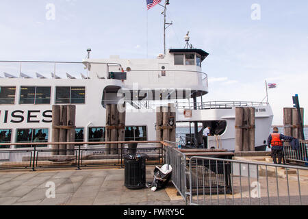
[[(209, 53), (193, 48), (188, 35), (185, 41), (185, 49), (169, 49), (153, 59), (92, 59), (89, 49), (81, 62), (0, 61), (0, 152), (29, 147), (1, 142), (50, 142), (55, 104), (77, 106), (76, 142), (104, 141), (105, 106), (123, 100), (123, 92), (130, 94), (125, 140), (155, 140), (156, 107), (174, 103), (177, 126), (189, 127), (177, 133), (182, 146), (234, 151), (235, 107), (244, 106), (255, 107), (255, 146), (265, 150), (270, 104), (206, 101), (208, 76), (202, 66)], [(211, 136), (203, 142), (208, 126)]]

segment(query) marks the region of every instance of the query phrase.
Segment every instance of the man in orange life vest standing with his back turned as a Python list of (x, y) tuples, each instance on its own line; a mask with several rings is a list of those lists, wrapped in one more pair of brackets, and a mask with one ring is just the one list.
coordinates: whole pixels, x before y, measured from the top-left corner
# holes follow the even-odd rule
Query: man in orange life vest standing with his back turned
[(281, 160), (283, 157), (282, 140), (292, 141), (293, 137), (283, 136), (283, 134), (278, 132), (278, 128), (274, 127), (273, 132), (268, 137), (268, 148), (272, 146), (272, 159), (274, 161), (274, 164), (277, 164), (277, 157), (278, 157), (278, 164), (281, 164)]

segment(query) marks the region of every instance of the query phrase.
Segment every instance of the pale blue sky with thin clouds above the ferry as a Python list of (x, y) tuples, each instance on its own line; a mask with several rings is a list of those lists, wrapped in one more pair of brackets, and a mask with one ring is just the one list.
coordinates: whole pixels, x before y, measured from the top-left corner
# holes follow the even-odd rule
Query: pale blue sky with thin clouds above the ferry
[[(88, 48), (93, 58), (154, 58), (164, 51), (161, 12), (146, 0), (1, 0), (0, 60), (80, 62)], [(209, 53), (205, 101), (262, 101), (265, 81), (277, 83), (268, 101), (282, 125), (294, 94), (308, 109), (307, 12), (307, 0), (170, 0), (167, 49), (183, 48), (190, 31)]]

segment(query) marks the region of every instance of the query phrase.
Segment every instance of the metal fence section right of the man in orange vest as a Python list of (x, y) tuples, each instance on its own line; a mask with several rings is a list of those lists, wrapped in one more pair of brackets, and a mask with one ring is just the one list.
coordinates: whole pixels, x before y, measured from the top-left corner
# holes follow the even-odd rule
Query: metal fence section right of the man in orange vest
[(308, 141), (299, 141), (299, 149), (292, 149), (289, 143), (283, 146), (285, 162), (308, 166)]

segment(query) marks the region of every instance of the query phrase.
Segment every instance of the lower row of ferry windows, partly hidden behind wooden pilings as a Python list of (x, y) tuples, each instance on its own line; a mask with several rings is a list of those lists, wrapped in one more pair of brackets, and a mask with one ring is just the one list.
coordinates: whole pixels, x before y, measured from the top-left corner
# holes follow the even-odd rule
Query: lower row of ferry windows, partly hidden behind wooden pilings
[[(88, 142), (105, 142), (105, 127), (90, 127)], [(146, 126), (125, 127), (125, 141), (146, 141)], [(16, 143), (48, 142), (49, 129), (17, 129)], [(75, 142), (84, 142), (84, 128), (75, 129)], [(0, 149), (9, 149), (10, 146), (1, 146), (1, 143), (12, 142), (12, 129), (0, 129)], [(16, 145), (16, 148), (29, 148), (29, 145)], [(46, 145), (38, 146), (46, 147)]]

